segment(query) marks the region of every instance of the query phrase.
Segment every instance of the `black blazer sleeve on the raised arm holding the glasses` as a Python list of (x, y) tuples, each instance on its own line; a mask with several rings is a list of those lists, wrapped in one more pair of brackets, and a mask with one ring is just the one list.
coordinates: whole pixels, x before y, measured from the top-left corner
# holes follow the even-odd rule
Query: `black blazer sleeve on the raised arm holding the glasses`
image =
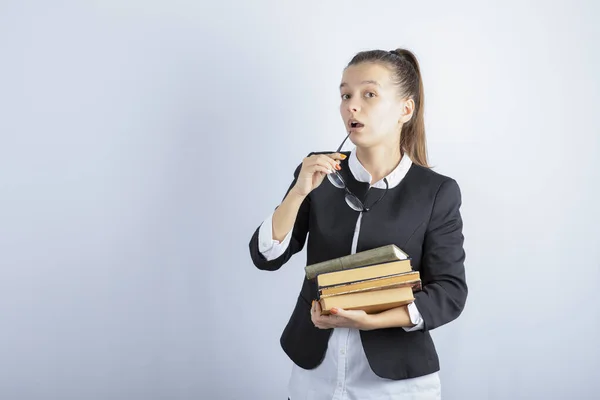
[[(294, 171), (294, 179), (290, 186), (288, 187), (285, 196), (288, 195), (290, 190), (296, 184), (296, 180), (300, 175), (300, 169), (302, 168), (302, 164), (298, 165), (296, 170)], [(284, 199), (285, 199), (284, 196)], [(279, 207), (279, 206), (278, 206)], [(277, 207), (275, 208), (277, 209)], [(302, 204), (300, 205), (300, 209), (298, 210), (298, 215), (296, 217), (296, 221), (294, 222), (294, 226), (292, 228), (292, 235), (289, 241), (289, 245), (285, 249), (285, 251), (279, 255), (277, 258), (272, 260), (267, 260), (267, 258), (261, 253), (259, 247), (259, 233), (260, 226), (256, 228), (254, 234), (252, 235), (249, 243), (250, 247), (250, 257), (252, 258), (252, 262), (254, 265), (261, 270), (266, 271), (276, 271), (281, 268), (294, 254), (298, 253), (304, 248), (304, 244), (306, 243), (306, 237), (309, 229), (309, 214), (310, 214), (310, 196), (306, 196)]]

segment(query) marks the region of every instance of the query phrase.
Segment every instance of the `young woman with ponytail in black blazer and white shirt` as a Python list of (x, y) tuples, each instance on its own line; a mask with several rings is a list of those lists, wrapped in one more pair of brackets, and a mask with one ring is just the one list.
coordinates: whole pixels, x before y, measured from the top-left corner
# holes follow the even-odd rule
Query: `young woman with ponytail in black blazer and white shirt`
[(274, 271), (305, 244), (313, 264), (393, 243), (410, 255), (423, 288), (408, 306), (378, 314), (321, 315), (315, 280), (305, 279), (280, 340), (294, 362), (289, 398), (439, 399), (430, 331), (465, 306), (465, 252), (458, 184), (427, 163), (417, 59), (406, 49), (360, 52), (340, 95), (354, 149), (340, 152), (342, 142), (304, 158), (254, 232), (252, 260)]

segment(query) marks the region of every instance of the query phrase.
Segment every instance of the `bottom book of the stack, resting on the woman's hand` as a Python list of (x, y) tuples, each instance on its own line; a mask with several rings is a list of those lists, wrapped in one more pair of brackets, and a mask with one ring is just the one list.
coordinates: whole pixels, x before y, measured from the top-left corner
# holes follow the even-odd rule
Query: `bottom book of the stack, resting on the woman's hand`
[(367, 314), (375, 314), (410, 304), (414, 299), (412, 288), (404, 286), (324, 297), (319, 302), (323, 314), (331, 314), (331, 309), (334, 307), (344, 310), (364, 310)]

